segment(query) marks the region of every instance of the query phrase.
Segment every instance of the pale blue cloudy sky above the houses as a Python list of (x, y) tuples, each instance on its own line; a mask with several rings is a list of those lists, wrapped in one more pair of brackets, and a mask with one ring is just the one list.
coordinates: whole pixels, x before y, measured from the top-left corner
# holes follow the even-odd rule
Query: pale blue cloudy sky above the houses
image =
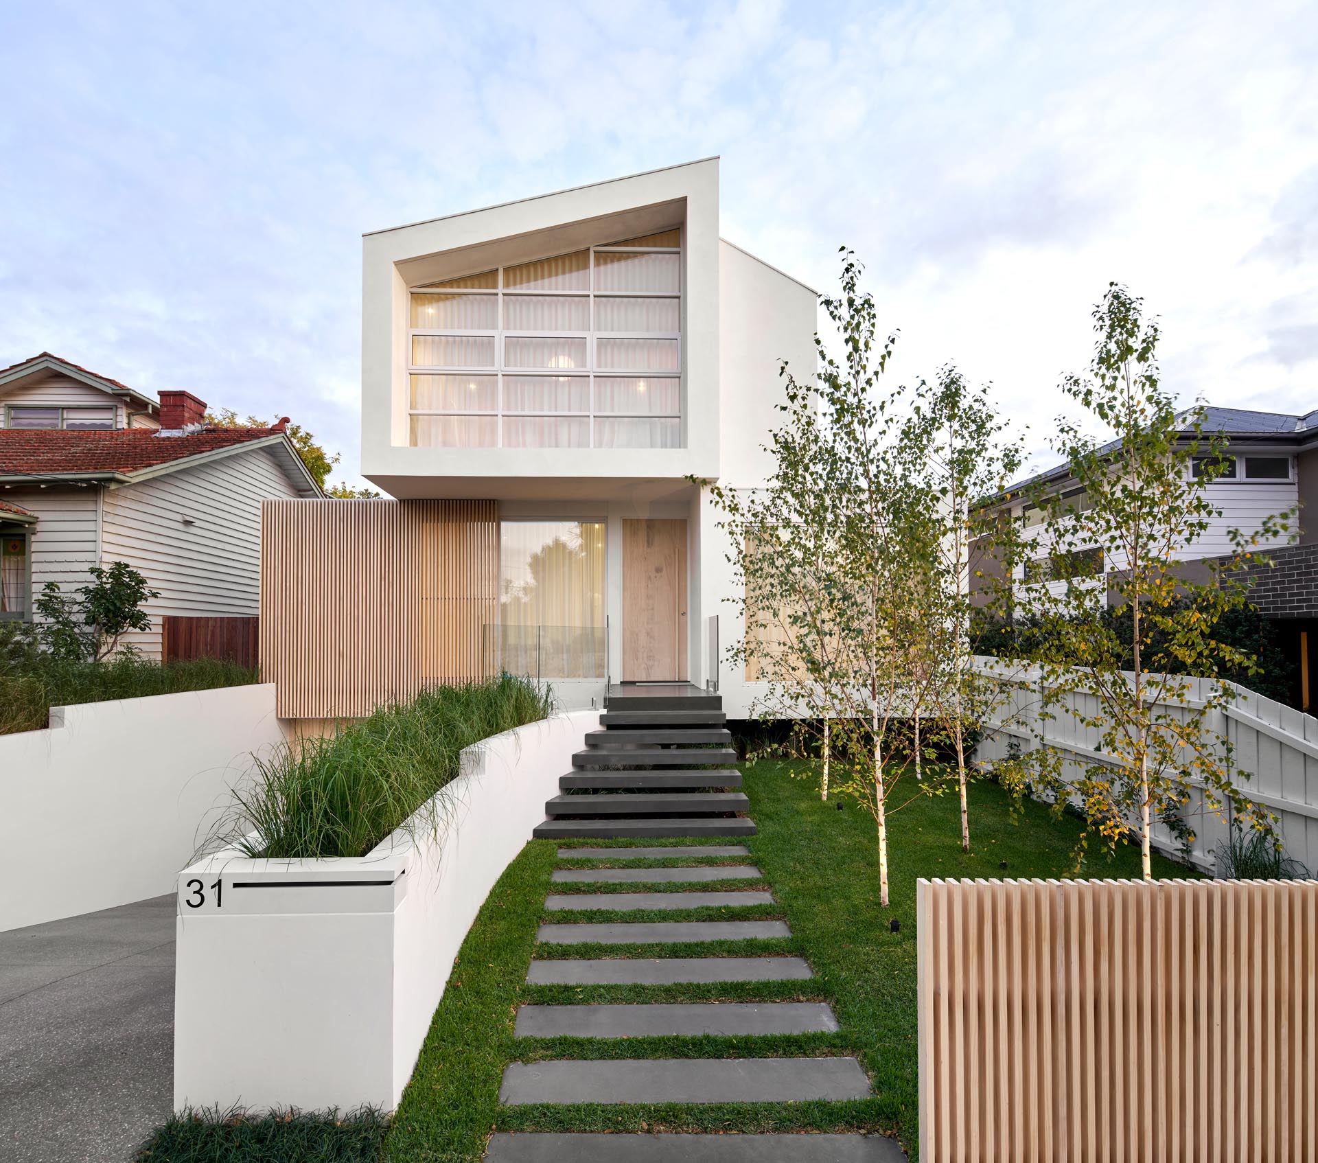
[(709, 154), (1041, 447), (1110, 280), (1185, 401), (1318, 407), (1318, 4), (0, 0), (0, 365), (286, 413), (355, 479), (364, 231)]

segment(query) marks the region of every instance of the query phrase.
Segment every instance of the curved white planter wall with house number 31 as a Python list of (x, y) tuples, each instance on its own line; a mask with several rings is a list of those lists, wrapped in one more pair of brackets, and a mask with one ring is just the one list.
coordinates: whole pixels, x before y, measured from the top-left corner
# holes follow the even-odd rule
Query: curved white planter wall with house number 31
[(467, 931), (598, 724), (556, 715), (468, 748), (435, 837), (181, 872), (175, 1109), (393, 1110)]

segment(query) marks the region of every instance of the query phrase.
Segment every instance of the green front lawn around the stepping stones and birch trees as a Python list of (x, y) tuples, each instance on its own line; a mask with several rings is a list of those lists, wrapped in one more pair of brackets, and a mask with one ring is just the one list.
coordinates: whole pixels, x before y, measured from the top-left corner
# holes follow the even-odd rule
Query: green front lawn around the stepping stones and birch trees
[[(751, 837), (749, 845), (779, 905), (745, 912), (738, 910), (737, 915), (783, 916), (792, 927), (789, 940), (685, 947), (559, 945), (547, 947), (542, 956), (800, 953), (815, 967), (816, 980), (660, 988), (527, 986), (526, 967), (535, 948), (538, 922), (604, 920), (610, 915), (546, 914), (543, 901), (551, 891), (550, 873), (558, 864), (558, 845), (532, 841), (500, 880), (463, 945), (449, 989), (435, 1014), (413, 1081), (386, 1137), (385, 1159), (393, 1163), (478, 1160), (493, 1129), (754, 1131), (851, 1127), (895, 1133), (915, 1154), (915, 881), (917, 877), (1062, 876), (1068, 872), (1069, 856), (1079, 832), (1078, 821), (1054, 820), (1044, 807), (1027, 804), (1024, 820), (1019, 825), (1012, 824), (1003, 792), (992, 785), (981, 783), (971, 790), (974, 848), (966, 854), (961, 852), (958, 840), (956, 800), (950, 796), (919, 799), (890, 820), (892, 906), (880, 909), (873, 819), (851, 804), (838, 811), (834, 803), (820, 803), (813, 782), (791, 778), (789, 767), (780, 763), (747, 769), (746, 791), (751, 815), (759, 825), (759, 835)], [(710, 858), (708, 862), (737, 861)], [(1135, 849), (1123, 849), (1115, 861), (1102, 860), (1085, 869), (1087, 876), (1131, 877), (1137, 872), (1139, 853)], [(1156, 858), (1155, 874), (1190, 873)], [(699, 887), (689, 886), (691, 890)], [(573, 889), (584, 890), (579, 886), (552, 886), (552, 891)], [(655, 914), (655, 918), (659, 915)], [(729, 915), (721, 910), (692, 910), (666, 911), (662, 918)], [(888, 930), (892, 918), (900, 922), (898, 934)], [(629, 914), (629, 919), (641, 918)], [(513, 1038), (515, 1009), (525, 1002), (716, 999), (824, 999), (833, 1005), (841, 1031), (772, 1039), (634, 1038), (608, 1043)], [(529, 1106), (502, 1112), (497, 1102), (500, 1077), (510, 1061), (601, 1055), (722, 1058), (787, 1054), (855, 1054), (874, 1079), (875, 1097), (842, 1104)]]

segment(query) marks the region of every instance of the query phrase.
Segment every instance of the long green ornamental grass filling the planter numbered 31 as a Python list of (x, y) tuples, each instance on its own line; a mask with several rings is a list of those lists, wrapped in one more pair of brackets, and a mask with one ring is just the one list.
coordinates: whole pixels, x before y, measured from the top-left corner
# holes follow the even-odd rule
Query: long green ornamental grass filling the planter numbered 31
[(332, 736), (257, 757), (204, 848), (235, 844), (248, 856), (291, 860), (365, 856), (398, 828), (434, 832), (444, 811), (435, 792), (459, 774), (463, 748), (550, 711), (547, 692), (510, 675), (381, 707)]

